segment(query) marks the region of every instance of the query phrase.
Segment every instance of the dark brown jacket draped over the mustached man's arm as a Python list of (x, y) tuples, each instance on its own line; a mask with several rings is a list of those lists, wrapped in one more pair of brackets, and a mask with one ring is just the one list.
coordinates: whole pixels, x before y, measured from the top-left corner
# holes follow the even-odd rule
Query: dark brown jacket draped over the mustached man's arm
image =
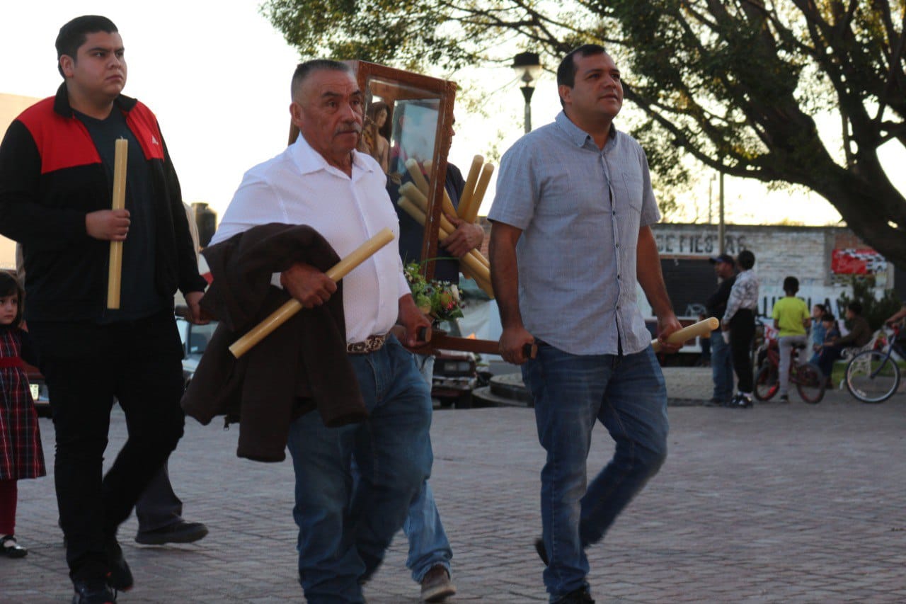
[(236, 359), (228, 350), (240, 336), (282, 306), (289, 295), (271, 275), (296, 262), (326, 271), (340, 258), (317, 231), (266, 224), (204, 250), (214, 278), (202, 308), (220, 321), (182, 399), (202, 424), (215, 415), (239, 418), (239, 457), (285, 459), (289, 424), (317, 409), (338, 426), (367, 417), (359, 383), (346, 356), (342, 284), (321, 307), (303, 309)]

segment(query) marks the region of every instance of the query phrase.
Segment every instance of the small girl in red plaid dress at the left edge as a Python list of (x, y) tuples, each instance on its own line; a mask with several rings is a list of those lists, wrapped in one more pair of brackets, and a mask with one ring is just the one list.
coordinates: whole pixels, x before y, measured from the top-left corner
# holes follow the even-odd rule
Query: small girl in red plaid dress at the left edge
[(0, 556), (28, 553), (15, 541), (16, 481), (43, 476), (44, 453), (38, 414), (23, 369), (23, 356), (33, 365), (31, 340), (22, 324), (22, 286), (0, 271)]

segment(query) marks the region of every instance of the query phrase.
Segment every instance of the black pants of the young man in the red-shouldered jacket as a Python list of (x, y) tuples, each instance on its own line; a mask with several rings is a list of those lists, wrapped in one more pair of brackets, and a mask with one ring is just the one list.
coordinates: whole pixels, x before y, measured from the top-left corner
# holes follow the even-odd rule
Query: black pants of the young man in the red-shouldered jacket
[[(107, 326), (32, 321), (56, 433), (54, 482), (73, 580), (108, 572), (116, 535), (182, 436), (182, 346), (172, 312)], [(113, 400), (129, 438), (102, 476)]]

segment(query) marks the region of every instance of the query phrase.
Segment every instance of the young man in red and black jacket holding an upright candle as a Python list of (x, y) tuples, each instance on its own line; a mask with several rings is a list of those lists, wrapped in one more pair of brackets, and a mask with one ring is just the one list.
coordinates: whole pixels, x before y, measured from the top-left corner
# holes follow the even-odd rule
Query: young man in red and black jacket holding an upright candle
[[(64, 83), (0, 144), (0, 233), (22, 244), (25, 308), (56, 433), (55, 483), (73, 602), (106, 602), (132, 577), (116, 541), (182, 435), (179, 288), (193, 320), (205, 281), (173, 165), (149, 109), (123, 96), (116, 25), (82, 16), (56, 40)], [(115, 141), (129, 141), (126, 208), (111, 208)], [(120, 308), (106, 307), (111, 241), (123, 241)], [(114, 397), (128, 441), (101, 479)]]

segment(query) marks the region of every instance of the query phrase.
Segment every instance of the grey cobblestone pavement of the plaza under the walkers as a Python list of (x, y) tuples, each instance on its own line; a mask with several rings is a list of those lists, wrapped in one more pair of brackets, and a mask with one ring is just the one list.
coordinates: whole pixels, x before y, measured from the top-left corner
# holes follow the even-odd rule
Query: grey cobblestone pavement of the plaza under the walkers
[[(708, 370), (670, 369), (671, 397), (707, 398)], [(600, 602), (906, 601), (906, 396), (752, 410), (670, 408), (670, 457), (607, 538), (589, 551)], [(48, 461), (53, 426), (42, 420)], [(115, 412), (111, 452), (125, 424)], [(143, 547), (134, 519), (120, 541), (136, 578), (120, 602), (302, 602), (295, 579), (291, 464), (236, 458), (236, 429), (189, 420), (170, 463), (203, 541)], [(431, 483), (455, 554), (454, 602), (544, 602), (531, 409), (434, 416)], [(589, 467), (609, 459), (599, 426)], [(112, 457), (112, 453), (110, 455)], [(19, 483), (17, 533), (30, 553), (0, 559), (0, 602), (72, 597), (51, 477)], [(366, 588), (370, 604), (414, 603), (398, 538)]]

